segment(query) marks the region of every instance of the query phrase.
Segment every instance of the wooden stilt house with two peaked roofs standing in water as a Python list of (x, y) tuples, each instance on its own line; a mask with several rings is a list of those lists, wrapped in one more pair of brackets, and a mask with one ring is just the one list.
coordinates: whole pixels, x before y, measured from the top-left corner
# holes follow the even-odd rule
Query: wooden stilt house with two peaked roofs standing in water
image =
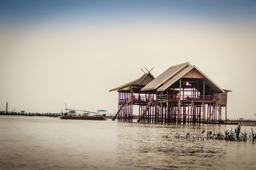
[[(172, 66), (156, 78), (148, 71), (109, 91), (114, 90), (118, 92), (118, 111), (113, 120), (132, 122), (138, 118), (138, 122), (183, 124), (227, 121), (227, 94), (231, 91), (221, 89), (189, 62)], [(138, 105), (136, 112), (134, 105)]]

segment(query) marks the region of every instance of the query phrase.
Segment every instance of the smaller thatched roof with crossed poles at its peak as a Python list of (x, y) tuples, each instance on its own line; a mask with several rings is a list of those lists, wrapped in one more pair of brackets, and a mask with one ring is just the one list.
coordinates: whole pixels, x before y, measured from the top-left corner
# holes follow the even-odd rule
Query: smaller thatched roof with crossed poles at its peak
[(125, 83), (124, 85), (121, 85), (119, 87), (111, 89), (111, 90), (109, 90), (109, 92), (114, 91), (114, 90), (124, 89), (125, 87), (129, 87), (131, 85), (145, 86), (145, 85), (147, 85), (147, 83), (149, 83), (152, 80), (154, 80), (154, 76), (151, 73), (145, 73), (140, 78), (137, 78), (136, 80), (130, 81), (128, 83)]

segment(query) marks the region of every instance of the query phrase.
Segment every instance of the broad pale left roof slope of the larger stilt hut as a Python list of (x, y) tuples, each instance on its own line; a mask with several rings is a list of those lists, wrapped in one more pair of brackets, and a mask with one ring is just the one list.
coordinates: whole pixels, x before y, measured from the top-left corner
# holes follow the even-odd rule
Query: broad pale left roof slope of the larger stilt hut
[(157, 78), (155, 78), (150, 83), (148, 83), (145, 87), (143, 87), (141, 91), (157, 89), (157, 87), (163, 84), (164, 81), (171, 78), (173, 75), (175, 75), (185, 66), (191, 66), (191, 64), (189, 64), (189, 62), (185, 62), (185, 63), (168, 68), (166, 71), (164, 71), (164, 73), (160, 74), (159, 76), (157, 76)]

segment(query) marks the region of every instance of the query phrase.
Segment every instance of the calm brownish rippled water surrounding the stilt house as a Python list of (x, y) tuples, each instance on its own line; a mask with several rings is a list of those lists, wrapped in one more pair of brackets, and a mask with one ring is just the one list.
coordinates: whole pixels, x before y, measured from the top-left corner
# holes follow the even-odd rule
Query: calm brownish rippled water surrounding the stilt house
[(173, 137), (235, 127), (1, 116), (0, 169), (255, 169), (256, 143)]

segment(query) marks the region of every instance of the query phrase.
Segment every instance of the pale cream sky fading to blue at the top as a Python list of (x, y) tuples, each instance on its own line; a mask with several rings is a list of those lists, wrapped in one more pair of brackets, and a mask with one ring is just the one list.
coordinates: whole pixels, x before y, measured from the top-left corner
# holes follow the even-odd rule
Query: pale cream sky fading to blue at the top
[(0, 1), (0, 110), (115, 113), (117, 92), (190, 62), (255, 118), (256, 1)]

